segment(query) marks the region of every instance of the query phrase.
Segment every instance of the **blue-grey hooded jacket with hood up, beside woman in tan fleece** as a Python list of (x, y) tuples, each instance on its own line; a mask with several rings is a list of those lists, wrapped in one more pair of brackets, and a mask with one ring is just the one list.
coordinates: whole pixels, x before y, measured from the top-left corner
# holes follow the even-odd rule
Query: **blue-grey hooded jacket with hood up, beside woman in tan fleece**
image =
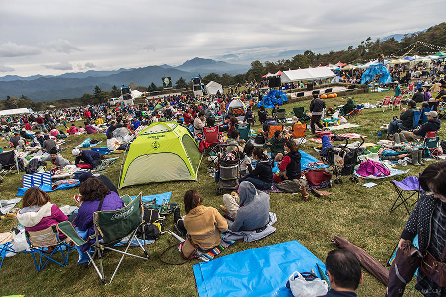
[(241, 182), (238, 187), (240, 208), (237, 210), (234, 222), (229, 221), (231, 231), (256, 230), (264, 227), (269, 221), (270, 196), (263, 191), (257, 191), (250, 182)]

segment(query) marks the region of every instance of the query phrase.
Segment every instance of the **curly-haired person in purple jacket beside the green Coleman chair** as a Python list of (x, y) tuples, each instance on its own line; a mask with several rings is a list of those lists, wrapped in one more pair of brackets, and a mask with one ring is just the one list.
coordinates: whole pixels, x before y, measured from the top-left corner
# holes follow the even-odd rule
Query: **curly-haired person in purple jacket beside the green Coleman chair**
[[(104, 210), (117, 210), (124, 207), (124, 202), (116, 192), (110, 191), (100, 179), (91, 177), (85, 180), (79, 189), (82, 204), (79, 207), (74, 224), (81, 231), (87, 231), (85, 238), (95, 233), (93, 225), (93, 213)], [(95, 242), (91, 240), (80, 246), (80, 251), (85, 253)], [(79, 262), (78, 262), (79, 263)]]

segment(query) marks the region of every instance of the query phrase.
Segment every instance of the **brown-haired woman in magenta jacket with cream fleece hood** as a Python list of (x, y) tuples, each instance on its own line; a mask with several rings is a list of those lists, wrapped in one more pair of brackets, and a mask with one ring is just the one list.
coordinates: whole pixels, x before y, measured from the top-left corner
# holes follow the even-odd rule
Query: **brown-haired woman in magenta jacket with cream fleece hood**
[[(25, 231), (40, 231), (60, 222), (68, 217), (51, 203), (50, 196), (39, 188), (32, 187), (25, 191), (22, 209), (17, 213), (17, 219), (25, 227)], [(60, 239), (65, 235), (60, 233)]]

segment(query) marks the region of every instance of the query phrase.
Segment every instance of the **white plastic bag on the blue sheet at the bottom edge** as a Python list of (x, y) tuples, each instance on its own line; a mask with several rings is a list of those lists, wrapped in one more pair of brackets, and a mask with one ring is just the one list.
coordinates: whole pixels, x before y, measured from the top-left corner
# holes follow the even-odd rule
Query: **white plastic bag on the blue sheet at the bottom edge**
[[(297, 277), (295, 278), (294, 275), (296, 274)], [(316, 297), (328, 292), (328, 285), (325, 281), (319, 278), (306, 281), (298, 271), (294, 271), (290, 275), (289, 287), (294, 297)]]

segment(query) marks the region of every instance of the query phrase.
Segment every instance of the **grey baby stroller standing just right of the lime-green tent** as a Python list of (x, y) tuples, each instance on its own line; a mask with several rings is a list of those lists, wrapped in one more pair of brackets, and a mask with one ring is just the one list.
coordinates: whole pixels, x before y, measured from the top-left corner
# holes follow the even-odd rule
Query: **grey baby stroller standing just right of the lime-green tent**
[(240, 173), (240, 158), (238, 154), (225, 154), (218, 160), (218, 165), (220, 170), (219, 186), (215, 189), (215, 194), (222, 195), (223, 190), (236, 190)]

